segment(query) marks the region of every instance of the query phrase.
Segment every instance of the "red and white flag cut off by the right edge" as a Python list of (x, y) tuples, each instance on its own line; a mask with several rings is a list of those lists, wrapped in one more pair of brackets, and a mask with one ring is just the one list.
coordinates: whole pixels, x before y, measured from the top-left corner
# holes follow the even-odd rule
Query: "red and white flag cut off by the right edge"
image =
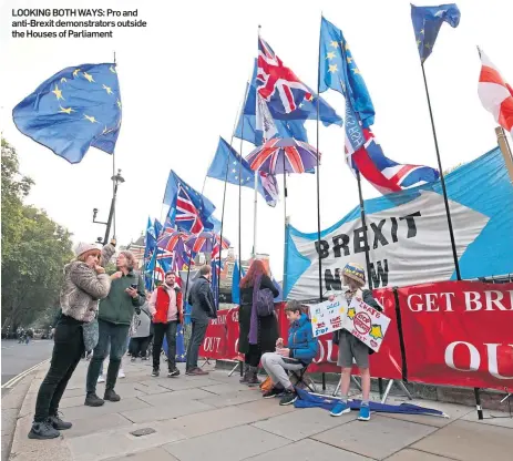
[(479, 50), (481, 57), (481, 74), (478, 93), (486, 111), (495, 121), (513, 136), (513, 90), (499, 73), (489, 57)]

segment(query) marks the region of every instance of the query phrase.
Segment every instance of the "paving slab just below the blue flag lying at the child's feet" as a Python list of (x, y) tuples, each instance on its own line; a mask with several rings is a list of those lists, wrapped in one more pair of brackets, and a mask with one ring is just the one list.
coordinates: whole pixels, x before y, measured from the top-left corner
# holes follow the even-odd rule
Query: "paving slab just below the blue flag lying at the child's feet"
[(370, 421), (349, 421), (312, 439), (382, 460), (435, 430), (432, 426), (372, 416)]

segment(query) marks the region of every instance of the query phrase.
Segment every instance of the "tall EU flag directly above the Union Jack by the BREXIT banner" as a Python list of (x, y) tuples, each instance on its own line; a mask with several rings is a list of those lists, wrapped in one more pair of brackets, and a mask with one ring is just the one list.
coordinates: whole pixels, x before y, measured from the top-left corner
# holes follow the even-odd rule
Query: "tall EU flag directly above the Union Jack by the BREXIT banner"
[(320, 93), (338, 91), (349, 100), (363, 127), (375, 123), (375, 106), (342, 31), (327, 19), (320, 24)]

